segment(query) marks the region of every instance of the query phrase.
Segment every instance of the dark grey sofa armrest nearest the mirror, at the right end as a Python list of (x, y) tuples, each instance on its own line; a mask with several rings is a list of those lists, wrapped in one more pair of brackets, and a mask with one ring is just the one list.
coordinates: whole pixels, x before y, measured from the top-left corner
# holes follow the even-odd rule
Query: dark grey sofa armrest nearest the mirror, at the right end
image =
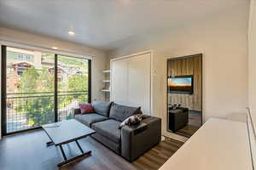
[(128, 161), (137, 157), (158, 144), (161, 139), (161, 119), (148, 117), (136, 126), (125, 126), (121, 129), (121, 155)]

